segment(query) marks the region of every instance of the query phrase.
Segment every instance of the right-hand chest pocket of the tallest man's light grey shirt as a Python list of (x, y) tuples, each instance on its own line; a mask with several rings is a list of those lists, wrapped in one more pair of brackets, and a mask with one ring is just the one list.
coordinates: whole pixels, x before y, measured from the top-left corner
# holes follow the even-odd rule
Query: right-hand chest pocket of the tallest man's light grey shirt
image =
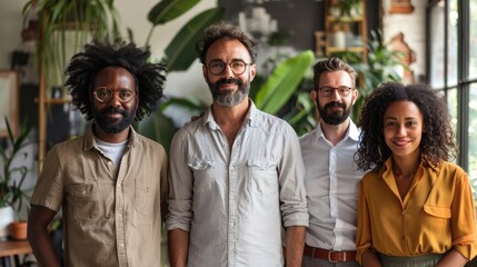
[(247, 188), (250, 192), (260, 196), (278, 192), (279, 185), (276, 162), (266, 159), (249, 159), (247, 167)]

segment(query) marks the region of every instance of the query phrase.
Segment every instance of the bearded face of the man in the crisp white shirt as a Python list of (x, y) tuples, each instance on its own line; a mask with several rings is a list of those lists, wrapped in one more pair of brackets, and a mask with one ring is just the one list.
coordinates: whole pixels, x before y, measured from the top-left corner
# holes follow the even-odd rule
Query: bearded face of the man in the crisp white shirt
[[(354, 81), (344, 70), (325, 71), (320, 75), (319, 85), (311, 91), (311, 98), (317, 105), (321, 119), (328, 125), (342, 123), (351, 112), (351, 107), (358, 98), (358, 91), (352, 89)], [(348, 87), (351, 91), (348, 96), (341, 96), (339, 90), (332, 90), (330, 96), (325, 96), (320, 88)]]

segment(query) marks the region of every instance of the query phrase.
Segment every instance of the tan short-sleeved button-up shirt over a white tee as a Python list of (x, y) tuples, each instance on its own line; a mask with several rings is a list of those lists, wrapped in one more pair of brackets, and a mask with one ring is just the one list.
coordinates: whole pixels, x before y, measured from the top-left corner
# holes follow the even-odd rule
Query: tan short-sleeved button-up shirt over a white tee
[(63, 207), (66, 266), (157, 266), (167, 155), (130, 128), (118, 175), (89, 129), (54, 146), (31, 204)]

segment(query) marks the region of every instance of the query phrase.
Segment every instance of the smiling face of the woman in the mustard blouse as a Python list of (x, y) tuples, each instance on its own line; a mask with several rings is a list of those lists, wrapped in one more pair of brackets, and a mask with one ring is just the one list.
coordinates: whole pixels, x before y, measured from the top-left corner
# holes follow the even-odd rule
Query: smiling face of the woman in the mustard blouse
[(392, 157), (417, 156), (424, 131), (423, 113), (407, 100), (389, 105), (384, 116), (384, 136)]

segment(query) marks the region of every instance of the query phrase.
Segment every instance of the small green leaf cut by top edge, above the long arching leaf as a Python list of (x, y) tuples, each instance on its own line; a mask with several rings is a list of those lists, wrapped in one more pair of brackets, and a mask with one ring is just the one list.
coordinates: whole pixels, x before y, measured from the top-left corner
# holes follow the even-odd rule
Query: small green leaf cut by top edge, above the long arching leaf
[(200, 0), (162, 0), (148, 13), (148, 20), (153, 24), (163, 24), (183, 14)]

